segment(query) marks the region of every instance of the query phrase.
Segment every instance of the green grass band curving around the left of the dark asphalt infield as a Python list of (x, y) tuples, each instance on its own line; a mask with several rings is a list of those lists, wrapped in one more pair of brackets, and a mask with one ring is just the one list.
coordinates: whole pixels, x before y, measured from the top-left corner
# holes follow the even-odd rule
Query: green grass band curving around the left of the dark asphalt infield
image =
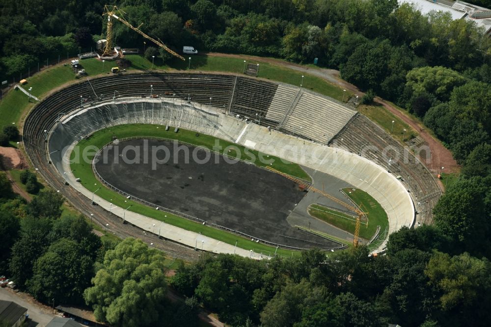
[[(159, 128), (157, 128), (159, 127)], [(162, 126), (157, 125), (146, 125), (146, 124), (135, 124), (135, 125), (120, 125), (115, 127), (110, 127), (105, 130), (96, 132), (89, 139), (82, 140), (78, 143), (77, 148), (74, 152), (72, 152), (72, 159), (75, 158), (75, 153), (83, 153), (83, 150), (88, 146), (95, 146), (97, 148), (101, 148), (112, 140), (112, 136), (117, 136), (118, 138), (129, 137), (129, 136), (157, 136), (157, 137), (165, 137), (170, 139), (179, 139), (180, 141), (188, 142), (195, 145), (206, 146), (211, 148), (215, 144), (215, 137), (200, 135), (199, 137), (195, 136), (195, 132), (180, 130), (179, 133), (174, 133), (173, 128), (169, 128), (169, 131), (165, 131)], [(222, 145), (221, 151), (227, 145), (233, 145), (233, 143), (226, 142), (220, 140), (220, 145)], [(239, 148), (240, 153), (243, 154), (243, 159), (246, 159), (244, 155), (244, 148), (238, 145), (235, 145)], [(263, 245), (260, 243), (252, 242), (248, 239), (242, 238), (240, 236), (215, 229), (213, 227), (209, 227), (206, 225), (201, 225), (199, 223), (195, 223), (191, 220), (181, 218), (169, 213), (162, 212), (160, 210), (155, 210), (154, 208), (150, 208), (146, 205), (140, 204), (133, 200), (128, 200), (125, 196), (122, 196), (114, 191), (109, 190), (106, 187), (102, 187), (101, 183), (94, 176), (92, 172), (91, 160), (95, 153), (92, 152), (91, 156), (87, 156), (89, 161), (79, 163), (72, 163), (71, 169), (73, 169), (73, 174), (75, 177), (81, 179), (81, 184), (89, 191), (97, 191), (97, 195), (104, 198), (107, 201), (110, 201), (115, 206), (127, 208), (128, 206), (132, 206), (129, 210), (139, 213), (141, 215), (154, 218), (165, 223), (184, 228), (186, 230), (190, 230), (192, 232), (201, 233), (205, 236), (211, 237), (218, 241), (235, 245), (235, 242), (238, 241), (237, 246), (244, 248), (246, 250), (254, 250), (255, 252), (263, 252), (268, 254), (268, 252), (273, 253), (275, 248), (268, 245)], [(230, 153), (229, 153), (230, 154)], [(255, 152), (256, 158), (257, 152)], [(232, 154), (230, 154), (232, 155)], [(308, 175), (300, 168), (297, 164), (286, 164), (283, 163), (278, 158), (270, 156), (268, 159), (273, 159), (273, 165), (275, 169), (286, 172), (288, 174), (292, 174), (294, 176), (298, 176), (304, 179), (310, 179)], [(259, 159), (256, 159), (256, 164), (258, 165), (266, 165), (259, 162)], [(291, 255), (292, 251), (278, 249), (278, 254), (281, 255)]]

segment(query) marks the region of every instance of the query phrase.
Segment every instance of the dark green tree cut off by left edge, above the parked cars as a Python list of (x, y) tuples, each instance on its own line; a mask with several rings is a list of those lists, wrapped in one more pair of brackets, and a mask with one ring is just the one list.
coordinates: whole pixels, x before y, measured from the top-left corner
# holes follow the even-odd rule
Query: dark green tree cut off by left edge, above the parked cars
[(19, 218), (0, 209), (0, 273), (5, 274), (11, 248), (19, 237), (21, 228)]

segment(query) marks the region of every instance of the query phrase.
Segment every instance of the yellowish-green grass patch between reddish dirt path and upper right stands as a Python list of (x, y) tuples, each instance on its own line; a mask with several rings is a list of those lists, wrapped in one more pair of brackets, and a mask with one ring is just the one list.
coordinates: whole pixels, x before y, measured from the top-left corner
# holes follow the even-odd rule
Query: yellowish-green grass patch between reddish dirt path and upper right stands
[[(382, 105), (377, 106), (365, 106), (360, 105), (357, 110), (370, 118), (371, 121), (376, 122), (382, 129), (385, 130), (392, 137), (398, 141), (409, 140), (419, 134), (408, 124), (406, 124), (401, 118), (394, 115), (392, 112), (385, 109)], [(394, 128), (392, 129), (392, 121), (394, 121)], [(404, 133), (406, 130), (406, 133)]]

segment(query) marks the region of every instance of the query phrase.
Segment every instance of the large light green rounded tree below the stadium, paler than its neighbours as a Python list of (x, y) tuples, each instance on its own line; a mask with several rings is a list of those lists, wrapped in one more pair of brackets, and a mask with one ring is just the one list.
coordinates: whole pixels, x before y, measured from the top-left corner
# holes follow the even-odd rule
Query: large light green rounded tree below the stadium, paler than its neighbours
[(106, 252), (102, 269), (84, 292), (97, 320), (113, 326), (155, 326), (164, 310), (164, 256), (128, 238)]

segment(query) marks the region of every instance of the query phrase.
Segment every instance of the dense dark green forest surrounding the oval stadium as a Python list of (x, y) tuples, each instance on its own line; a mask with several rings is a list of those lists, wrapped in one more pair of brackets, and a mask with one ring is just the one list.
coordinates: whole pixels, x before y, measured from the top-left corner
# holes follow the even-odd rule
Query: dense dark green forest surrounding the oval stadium
[[(89, 50), (105, 33), (104, 4), (117, 4), (131, 24), (144, 22), (146, 33), (176, 50), (192, 45), (299, 63), (318, 58), (361, 90), (420, 117), (462, 172), (436, 205), (435, 224), (392, 234), (386, 255), (369, 257), (360, 247), (269, 262), (206, 256), (172, 278), (170, 285), (188, 297), (179, 306), (164, 299), (158, 254), (136, 241), (101, 243), (83, 219), (60, 218), (56, 194), (26, 204), (0, 175), (0, 273), (41, 301), (85, 302), (113, 326), (196, 326), (191, 313), (198, 304), (232, 326), (489, 324), (491, 40), (482, 30), (396, 0), (3, 0), (1, 80), (49, 56)], [(114, 32), (116, 43), (143, 48), (126, 27), (115, 25)], [(153, 53), (169, 59), (147, 43), (145, 54)], [(117, 266), (124, 251), (141, 267)], [(59, 281), (58, 273), (63, 288), (45, 283)], [(146, 292), (149, 285), (155, 292)], [(145, 321), (138, 320), (140, 302), (152, 313)]]

